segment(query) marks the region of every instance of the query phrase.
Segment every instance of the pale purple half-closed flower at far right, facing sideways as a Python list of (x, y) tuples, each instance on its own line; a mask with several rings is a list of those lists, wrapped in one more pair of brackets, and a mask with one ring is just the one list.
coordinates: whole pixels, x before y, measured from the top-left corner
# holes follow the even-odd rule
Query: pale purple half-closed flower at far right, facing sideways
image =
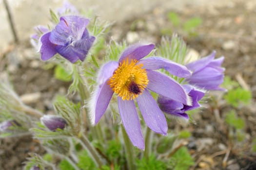
[(221, 68), (224, 57), (214, 59), (215, 54), (213, 51), (210, 55), (186, 65), (193, 71), (192, 75), (186, 78), (189, 84), (206, 90), (225, 90), (219, 87), (224, 78), (225, 68)]

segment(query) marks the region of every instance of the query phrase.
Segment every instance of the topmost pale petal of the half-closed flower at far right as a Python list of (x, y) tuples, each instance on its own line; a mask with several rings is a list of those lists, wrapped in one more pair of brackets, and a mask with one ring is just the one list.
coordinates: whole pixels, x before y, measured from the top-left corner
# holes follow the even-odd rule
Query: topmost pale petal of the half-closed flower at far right
[(216, 51), (213, 51), (210, 55), (187, 64), (186, 67), (193, 72), (197, 72), (200, 69), (206, 67), (210, 62), (212, 62), (214, 60), (215, 54), (216, 54)]

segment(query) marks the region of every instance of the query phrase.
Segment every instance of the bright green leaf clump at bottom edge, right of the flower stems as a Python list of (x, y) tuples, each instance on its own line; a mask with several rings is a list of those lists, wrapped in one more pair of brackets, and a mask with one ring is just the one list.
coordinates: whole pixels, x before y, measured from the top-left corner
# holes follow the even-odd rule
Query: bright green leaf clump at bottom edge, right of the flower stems
[(173, 154), (170, 162), (173, 164), (172, 170), (188, 170), (189, 167), (195, 164), (193, 157), (184, 146)]

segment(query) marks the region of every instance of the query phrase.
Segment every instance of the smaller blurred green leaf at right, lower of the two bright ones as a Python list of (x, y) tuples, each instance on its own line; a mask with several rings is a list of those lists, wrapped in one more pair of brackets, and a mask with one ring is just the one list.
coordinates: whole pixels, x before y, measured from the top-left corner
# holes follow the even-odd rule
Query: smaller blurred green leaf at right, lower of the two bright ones
[(243, 119), (241, 118), (236, 118), (236, 113), (235, 111), (230, 111), (227, 115), (226, 115), (226, 119), (225, 119), (226, 123), (229, 124), (230, 126), (235, 127), (236, 129), (242, 129), (244, 128), (245, 122)]

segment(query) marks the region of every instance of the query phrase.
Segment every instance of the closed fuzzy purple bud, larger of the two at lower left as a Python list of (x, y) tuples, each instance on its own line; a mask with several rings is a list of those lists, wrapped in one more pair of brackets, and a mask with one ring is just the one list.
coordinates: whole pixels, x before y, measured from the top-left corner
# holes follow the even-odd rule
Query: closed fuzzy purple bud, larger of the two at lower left
[(61, 117), (54, 115), (45, 115), (40, 118), (41, 123), (44, 124), (50, 131), (56, 131), (56, 129), (64, 129), (67, 125), (67, 121)]

